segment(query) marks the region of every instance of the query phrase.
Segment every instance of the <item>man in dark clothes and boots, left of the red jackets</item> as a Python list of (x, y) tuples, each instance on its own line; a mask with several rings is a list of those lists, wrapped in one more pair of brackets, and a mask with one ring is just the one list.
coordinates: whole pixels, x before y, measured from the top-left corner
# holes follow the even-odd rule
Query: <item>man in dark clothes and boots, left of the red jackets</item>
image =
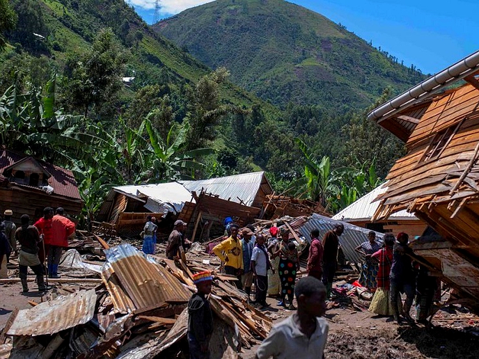
[(37, 276), (38, 292), (45, 292), (45, 278), (43, 278), (43, 266), (38, 259), (38, 243), (41, 241), (40, 234), (35, 226), (29, 225), (30, 217), (28, 214), (20, 217), (22, 226), (15, 232), (15, 238), (20, 244), (20, 252), (18, 257), (19, 276), (22, 281), (23, 292), (29, 292), (29, 286), (26, 282), (26, 271), (28, 267)]

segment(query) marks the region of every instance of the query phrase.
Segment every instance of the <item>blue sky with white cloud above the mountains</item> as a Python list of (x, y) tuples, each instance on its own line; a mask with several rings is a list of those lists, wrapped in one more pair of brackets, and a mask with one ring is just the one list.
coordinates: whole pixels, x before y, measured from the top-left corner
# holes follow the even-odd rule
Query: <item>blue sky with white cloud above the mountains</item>
[[(160, 17), (212, 0), (161, 0)], [(127, 0), (152, 23), (155, 0)], [(290, 0), (343, 24), (399, 61), (435, 74), (479, 49), (477, 0)]]

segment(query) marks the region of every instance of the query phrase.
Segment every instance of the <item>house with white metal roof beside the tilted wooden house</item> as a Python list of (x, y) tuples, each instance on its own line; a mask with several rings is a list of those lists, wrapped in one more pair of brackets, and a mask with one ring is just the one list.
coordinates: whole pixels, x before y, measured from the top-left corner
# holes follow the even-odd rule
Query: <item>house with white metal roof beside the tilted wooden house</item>
[(376, 198), (386, 192), (387, 189), (388, 182), (377, 186), (377, 188), (370, 191), (370, 193), (359, 198), (359, 200), (356, 200), (356, 202), (347, 206), (332, 218), (377, 232), (390, 232), (394, 234), (394, 237), (400, 232), (405, 232), (409, 234), (410, 237), (423, 234), (427, 223), (414, 216), (414, 214), (407, 212), (405, 209), (391, 213), (387, 218), (382, 218), (374, 223), (371, 222), (372, 216), (374, 216), (377, 207), (379, 207), (379, 201), (377, 201)]

